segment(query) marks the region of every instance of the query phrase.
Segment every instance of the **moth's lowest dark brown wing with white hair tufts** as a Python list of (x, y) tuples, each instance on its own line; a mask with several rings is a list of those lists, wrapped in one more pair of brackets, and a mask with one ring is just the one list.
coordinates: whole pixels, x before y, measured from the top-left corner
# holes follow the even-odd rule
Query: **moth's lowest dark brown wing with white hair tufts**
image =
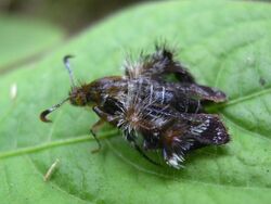
[(189, 151), (224, 144), (230, 141), (230, 136), (217, 115), (181, 114), (165, 132), (163, 140), (165, 161), (168, 165), (180, 168)]

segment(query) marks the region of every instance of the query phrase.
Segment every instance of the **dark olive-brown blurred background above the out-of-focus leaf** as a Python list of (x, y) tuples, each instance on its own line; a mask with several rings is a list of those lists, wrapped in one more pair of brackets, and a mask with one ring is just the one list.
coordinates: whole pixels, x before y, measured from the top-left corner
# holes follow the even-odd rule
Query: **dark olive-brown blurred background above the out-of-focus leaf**
[(144, 0), (1, 0), (0, 12), (41, 18), (75, 34), (95, 21)]

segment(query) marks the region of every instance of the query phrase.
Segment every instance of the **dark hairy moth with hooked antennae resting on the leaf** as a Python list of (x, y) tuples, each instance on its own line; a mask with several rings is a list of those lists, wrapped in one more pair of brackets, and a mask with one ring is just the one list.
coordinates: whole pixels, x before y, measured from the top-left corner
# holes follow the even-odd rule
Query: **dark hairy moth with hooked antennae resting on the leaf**
[(51, 122), (47, 115), (66, 101), (76, 106), (91, 106), (100, 117), (90, 130), (98, 150), (101, 143), (95, 132), (107, 122), (120, 129), (147, 161), (157, 164), (145, 151), (160, 150), (165, 162), (175, 168), (182, 167), (185, 154), (192, 150), (230, 141), (219, 116), (205, 113), (203, 107), (206, 101), (224, 102), (227, 95), (198, 85), (165, 46), (156, 46), (153, 54), (141, 54), (137, 63), (126, 61), (124, 76), (103, 77), (79, 86), (69, 67), (70, 58), (64, 58), (72, 81), (68, 97), (43, 111), (42, 122)]

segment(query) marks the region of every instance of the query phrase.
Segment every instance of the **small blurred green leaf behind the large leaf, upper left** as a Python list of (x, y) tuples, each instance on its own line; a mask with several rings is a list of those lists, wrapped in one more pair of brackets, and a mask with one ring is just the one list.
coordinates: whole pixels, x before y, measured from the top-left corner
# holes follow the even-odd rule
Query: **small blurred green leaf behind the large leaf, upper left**
[(64, 37), (60, 28), (46, 22), (3, 14), (0, 30), (0, 69), (37, 59)]

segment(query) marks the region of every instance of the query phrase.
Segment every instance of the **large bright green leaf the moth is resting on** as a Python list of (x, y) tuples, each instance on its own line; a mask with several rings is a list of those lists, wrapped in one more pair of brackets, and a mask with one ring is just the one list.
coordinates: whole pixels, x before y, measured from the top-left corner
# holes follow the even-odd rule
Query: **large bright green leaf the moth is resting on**
[[(120, 73), (125, 52), (167, 39), (201, 84), (227, 92), (211, 106), (232, 141), (191, 153), (185, 168), (156, 167), (105, 127), (103, 150), (89, 135), (98, 117), (64, 105), (43, 124), (41, 111), (67, 95), (62, 65), (74, 54), (82, 81)], [(143, 4), (105, 20), (31, 65), (1, 78), (0, 200), (5, 203), (270, 203), (271, 5), (236, 1)], [(28, 66), (29, 67), (29, 66)], [(30, 81), (30, 82), (29, 82)], [(17, 98), (10, 86), (17, 84)], [(159, 155), (159, 153), (158, 153)], [(162, 160), (158, 156), (158, 160)], [(48, 182), (47, 169), (60, 164)]]

